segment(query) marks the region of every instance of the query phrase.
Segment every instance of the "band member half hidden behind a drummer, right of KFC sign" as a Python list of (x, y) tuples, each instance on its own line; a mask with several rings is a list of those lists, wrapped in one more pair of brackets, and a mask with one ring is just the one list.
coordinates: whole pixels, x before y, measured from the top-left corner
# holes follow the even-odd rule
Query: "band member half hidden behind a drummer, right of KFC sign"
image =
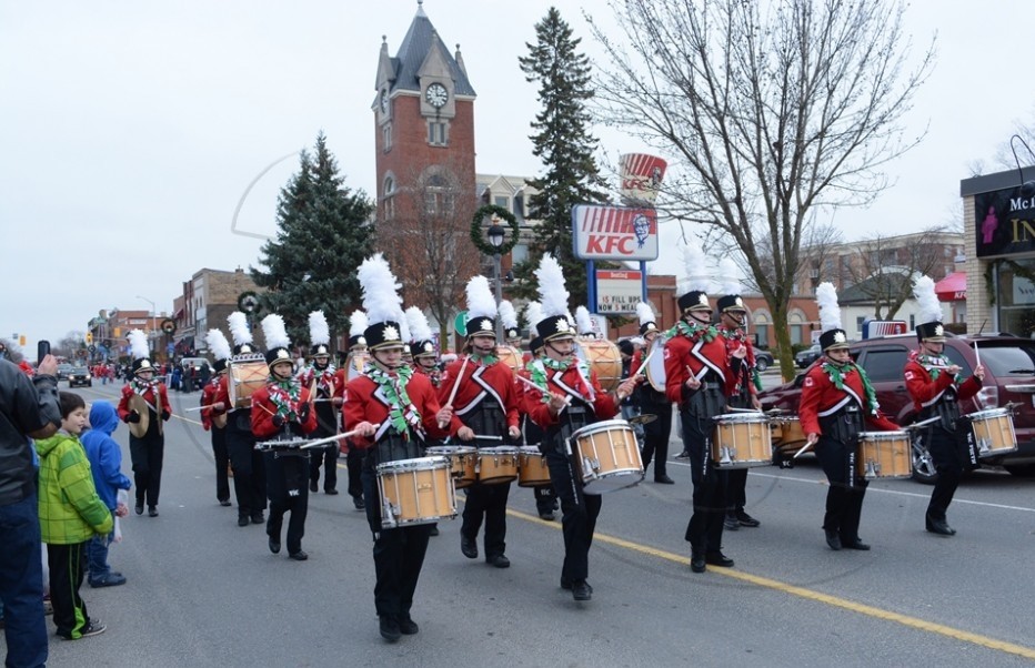
[[(741, 300), (741, 282), (737, 276), (736, 263), (728, 257), (719, 262), (719, 272), (726, 280), (726, 294), (719, 298), (719, 333), (726, 342), (726, 352), (733, 372), (733, 387), (726, 397), (726, 404), (734, 408), (762, 409), (758, 401), (758, 371), (755, 367), (755, 351), (747, 342), (744, 323), (747, 308)], [(747, 351), (743, 360), (733, 355), (738, 350)], [(747, 469), (734, 468), (728, 472), (728, 486), (726, 488), (726, 520), (725, 528), (737, 530), (742, 526), (756, 527), (762, 523), (744, 510), (747, 503)]]

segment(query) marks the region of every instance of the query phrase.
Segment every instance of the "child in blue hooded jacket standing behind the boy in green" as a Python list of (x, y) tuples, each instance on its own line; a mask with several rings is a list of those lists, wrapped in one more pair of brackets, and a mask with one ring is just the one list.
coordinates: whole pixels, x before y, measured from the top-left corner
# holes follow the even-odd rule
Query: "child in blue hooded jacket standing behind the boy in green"
[[(119, 414), (109, 402), (94, 402), (90, 408), (90, 431), (82, 435), (82, 445), (90, 459), (93, 485), (112, 517), (124, 517), (129, 508), (118, 500), (119, 489), (129, 489), (130, 479), (122, 474), (122, 451), (111, 435), (119, 426)], [(115, 587), (125, 584), (125, 577), (108, 565), (108, 536), (94, 536), (87, 545), (87, 581), (91, 587)]]

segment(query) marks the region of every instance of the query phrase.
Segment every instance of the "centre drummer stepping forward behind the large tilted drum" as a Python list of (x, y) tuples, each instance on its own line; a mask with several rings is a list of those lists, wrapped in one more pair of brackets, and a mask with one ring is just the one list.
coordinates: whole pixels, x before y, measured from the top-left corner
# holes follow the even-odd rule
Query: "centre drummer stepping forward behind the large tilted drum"
[(601, 496), (584, 494), (582, 477), (572, 468), (565, 441), (580, 428), (611, 419), (619, 404), (635, 388), (635, 378), (619, 385), (606, 394), (596, 379), (596, 373), (585, 362), (574, 357), (575, 327), (567, 317), (567, 290), (561, 265), (551, 255), (543, 255), (539, 269), (540, 300), (543, 318), (536, 325), (545, 355), (530, 364), (532, 382), (524, 393), (524, 411), (544, 429), (540, 449), (550, 467), (551, 484), (561, 499), (561, 525), (564, 533), (564, 565), (561, 587), (570, 589), (575, 600), (590, 600), (593, 588), (589, 577), (590, 546)]

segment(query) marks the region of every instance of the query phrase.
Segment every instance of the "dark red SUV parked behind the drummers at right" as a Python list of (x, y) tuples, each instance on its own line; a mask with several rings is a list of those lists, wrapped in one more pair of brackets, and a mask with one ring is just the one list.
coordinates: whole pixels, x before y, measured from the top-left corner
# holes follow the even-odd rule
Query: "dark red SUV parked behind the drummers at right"
[[(877, 393), (881, 409), (896, 423), (912, 424), (916, 416), (906, 392), (903, 368), (911, 351), (918, 346), (916, 334), (878, 336), (852, 344), (852, 358), (866, 370)], [(985, 367), (981, 392), (961, 404), (962, 413), (976, 413), (1009, 404), (1013, 407), (1017, 452), (982, 459), (1002, 465), (1017, 476), (1035, 476), (1035, 341), (1016, 336), (949, 336), (945, 355), (961, 367), (963, 377), (977, 365), (977, 355)], [(763, 409), (781, 408), (797, 414), (804, 373), (760, 394)], [(937, 474), (927, 449), (913, 442), (913, 478), (934, 483)]]

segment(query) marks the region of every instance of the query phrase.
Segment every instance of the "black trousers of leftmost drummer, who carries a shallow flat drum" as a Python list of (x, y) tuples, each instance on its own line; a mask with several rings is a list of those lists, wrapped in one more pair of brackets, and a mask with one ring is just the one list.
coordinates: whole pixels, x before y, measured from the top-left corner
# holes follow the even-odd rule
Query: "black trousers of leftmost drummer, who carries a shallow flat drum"
[(288, 554), (302, 550), (302, 536), (305, 535), (305, 515), (309, 513), (309, 487), (305, 485), (309, 473), (309, 454), (268, 452), (265, 457), (267, 494), (270, 499), (270, 517), (265, 533), (280, 543), (280, 532), (284, 514), (291, 513), (288, 520)]

